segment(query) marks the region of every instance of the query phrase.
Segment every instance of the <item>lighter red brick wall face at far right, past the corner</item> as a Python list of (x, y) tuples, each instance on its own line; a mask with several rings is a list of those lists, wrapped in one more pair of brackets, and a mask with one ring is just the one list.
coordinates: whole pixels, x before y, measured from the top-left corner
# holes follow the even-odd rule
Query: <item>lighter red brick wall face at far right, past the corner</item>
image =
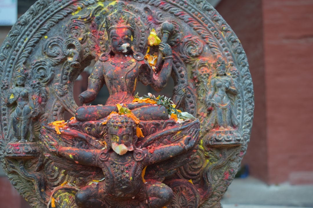
[(313, 1), (263, 0), (263, 14), (269, 183), (313, 179)]

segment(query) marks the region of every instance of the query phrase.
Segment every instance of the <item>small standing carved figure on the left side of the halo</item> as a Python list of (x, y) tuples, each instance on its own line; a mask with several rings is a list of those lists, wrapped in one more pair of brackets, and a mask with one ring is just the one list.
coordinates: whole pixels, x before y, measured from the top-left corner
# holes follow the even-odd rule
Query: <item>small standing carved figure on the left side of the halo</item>
[[(8, 91), (7, 95), (7, 106), (17, 104), (12, 113), (14, 138), (11, 142), (26, 142), (31, 120), (38, 115), (32, 97), (32, 89), (25, 85), (27, 74), (25, 66), (18, 69), (15, 75), (15, 85)], [(29, 140), (32, 141), (32, 136), (29, 137)]]

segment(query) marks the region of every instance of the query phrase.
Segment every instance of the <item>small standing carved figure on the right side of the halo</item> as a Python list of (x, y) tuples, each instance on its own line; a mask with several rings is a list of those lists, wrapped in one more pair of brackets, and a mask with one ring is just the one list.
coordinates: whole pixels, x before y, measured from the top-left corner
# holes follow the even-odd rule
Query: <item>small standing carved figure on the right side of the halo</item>
[(213, 64), (214, 74), (208, 86), (207, 107), (213, 107), (211, 118), (216, 118), (218, 129), (233, 129), (238, 121), (233, 112), (230, 96), (237, 94), (232, 77), (226, 74), (225, 61), (222, 58)]

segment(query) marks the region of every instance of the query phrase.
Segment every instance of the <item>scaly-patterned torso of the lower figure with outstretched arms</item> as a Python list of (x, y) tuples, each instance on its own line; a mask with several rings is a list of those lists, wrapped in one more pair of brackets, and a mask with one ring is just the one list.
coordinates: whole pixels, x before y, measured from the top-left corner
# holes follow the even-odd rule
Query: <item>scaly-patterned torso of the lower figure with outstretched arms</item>
[(110, 195), (115, 197), (136, 196), (142, 185), (140, 163), (132, 160), (128, 162), (118, 162), (114, 158), (107, 161), (105, 174), (105, 186)]

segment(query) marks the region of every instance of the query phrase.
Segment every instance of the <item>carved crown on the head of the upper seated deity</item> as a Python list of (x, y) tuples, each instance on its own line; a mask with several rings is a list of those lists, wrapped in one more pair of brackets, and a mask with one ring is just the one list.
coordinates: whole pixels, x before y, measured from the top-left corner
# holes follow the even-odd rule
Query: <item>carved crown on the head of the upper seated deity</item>
[(108, 33), (113, 29), (125, 27), (133, 33), (135, 29), (135, 18), (123, 10), (118, 9), (106, 17), (106, 30)]

